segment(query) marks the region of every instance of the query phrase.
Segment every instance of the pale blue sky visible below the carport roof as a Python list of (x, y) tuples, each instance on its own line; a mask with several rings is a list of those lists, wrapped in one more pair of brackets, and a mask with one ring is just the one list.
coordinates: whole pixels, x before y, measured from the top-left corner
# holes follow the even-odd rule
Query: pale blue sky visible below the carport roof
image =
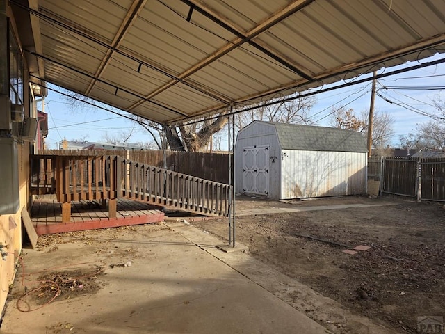
[[(440, 57), (435, 56), (428, 60), (438, 58)], [(391, 67), (386, 71), (401, 67), (406, 67), (406, 65)], [(375, 97), (375, 109), (385, 111), (395, 119), (393, 125), (395, 134), (391, 138), (394, 147), (400, 144), (400, 136), (415, 132), (417, 125), (431, 120), (420, 113), (435, 111), (433, 106), (431, 106), (431, 100), (434, 95), (441, 94), (442, 92), (442, 90), (436, 88), (445, 88), (445, 84), (443, 84), (444, 79), (445, 64), (423, 67), (420, 70), (412, 70), (378, 79), (378, 88), (382, 86), (388, 87), (387, 90), (378, 90), (378, 93), (395, 102), (390, 104), (381, 97)], [(54, 86), (50, 87), (55, 88)], [(423, 87), (428, 87), (428, 89), (417, 89)], [(326, 93), (319, 93), (316, 95), (316, 99), (317, 102), (309, 116), (313, 116), (313, 120), (318, 120), (315, 125), (329, 126), (331, 118), (328, 114), (332, 112), (331, 106), (345, 106), (346, 108), (354, 109), (357, 113), (364, 109), (369, 110), (371, 81)], [(401, 104), (401, 106), (397, 104)], [(40, 104), (38, 104), (38, 107), (40, 110), (42, 109)], [(44, 111), (49, 114), (49, 135), (47, 137), (49, 148), (57, 148), (58, 143), (63, 138), (67, 140), (104, 141), (104, 138), (107, 136), (108, 138), (113, 138), (120, 136), (122, 132), (130, 132), (133, 127), (133, 134), (129, 142), (151, 141), (151, 137), (145, 129), (138, 125), (135, 126), (130, 120), (120, 118), (108, 111), (94, 108), (77, 112), (70, 111), (64, 97), (52, 90), (49, 90), (49, 95), (45, 100)], [(115, 111), (118, 110), (115, 109)], [(122, 111), (118, 112), (124, 113)], [(224, 148), (227, 145), (227, 134), (219, 134), (218, 137), (220, 138), (221, 147)]]

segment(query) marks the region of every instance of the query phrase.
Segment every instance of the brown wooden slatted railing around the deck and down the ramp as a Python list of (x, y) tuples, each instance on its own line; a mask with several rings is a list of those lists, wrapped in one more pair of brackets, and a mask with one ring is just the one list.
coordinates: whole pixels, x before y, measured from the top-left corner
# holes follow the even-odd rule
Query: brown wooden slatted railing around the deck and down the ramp
[(74, 200), (108, 200), (109, 217), (117, 198), (204, 215), (229, 214), (228, 184), (213, 182), (116, 156), (31, 157), (31, 193), (55, 193), (63, 221), (70, 221)]

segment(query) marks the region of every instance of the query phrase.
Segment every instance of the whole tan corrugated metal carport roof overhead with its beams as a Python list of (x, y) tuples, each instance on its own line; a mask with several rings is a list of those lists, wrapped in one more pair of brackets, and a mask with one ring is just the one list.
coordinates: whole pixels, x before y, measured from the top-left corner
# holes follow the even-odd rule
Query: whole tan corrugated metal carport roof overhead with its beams
[(175, 123), (443, 51), (445, 0), (13, 0), (33, 81)]

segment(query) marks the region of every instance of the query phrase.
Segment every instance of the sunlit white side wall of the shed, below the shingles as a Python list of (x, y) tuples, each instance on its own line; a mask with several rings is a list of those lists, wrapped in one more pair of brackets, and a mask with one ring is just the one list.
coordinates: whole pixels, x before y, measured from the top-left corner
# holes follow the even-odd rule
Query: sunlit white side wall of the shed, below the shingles
[(282, 154), (280, 199), (365, 192), (366, 153), (283, 150)]

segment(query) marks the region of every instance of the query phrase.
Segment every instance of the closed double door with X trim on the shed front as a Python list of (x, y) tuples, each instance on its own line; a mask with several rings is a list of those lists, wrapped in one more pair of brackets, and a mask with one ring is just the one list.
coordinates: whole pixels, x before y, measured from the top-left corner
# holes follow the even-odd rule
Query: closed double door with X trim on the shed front
[(269, 146), (243, 148), (243, 192), (269, 194)]

